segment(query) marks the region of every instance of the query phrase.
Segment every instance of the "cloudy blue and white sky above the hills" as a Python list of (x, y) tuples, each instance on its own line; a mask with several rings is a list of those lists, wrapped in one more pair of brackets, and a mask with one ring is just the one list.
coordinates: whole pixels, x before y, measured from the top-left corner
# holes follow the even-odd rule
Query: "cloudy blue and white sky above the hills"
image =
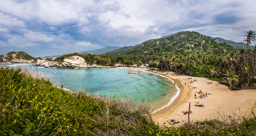
[(256, 33), (255, 0), (0, 2), (0, 55), (25, 51), (44, 57), (131, 46), (180, 31), (236, 42), (249, 30)]

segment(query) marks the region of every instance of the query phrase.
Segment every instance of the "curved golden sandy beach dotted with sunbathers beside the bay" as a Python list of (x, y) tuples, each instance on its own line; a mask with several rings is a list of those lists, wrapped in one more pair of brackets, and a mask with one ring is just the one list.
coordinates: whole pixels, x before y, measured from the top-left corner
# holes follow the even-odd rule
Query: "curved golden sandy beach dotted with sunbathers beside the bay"
[[(120, 67), (130, 68), (137, 70), (148, 71), (146, 68), (134, 68), (134, 67)], [(152, 72), (152, 71), (150, 71)], [(239, 90), (231, 91), (227, 86), (221, 85), (218, 81), (212, 81), (203, 77), (191, 77), (187, 75), (175, 75), (174, 72), (153, 71), (154, 73), (162, 74), (170, 79), (174, 80), (178, 87), (180, 87), (179, 96), (167, 107), (152, 114), (153, 120), (159, 125), (163, 125), (165, 122), (167, 126), (167, 120), (175, 119), (182, 122), (187, 122), (187, 114), (184, 115), (183, 111), (188, 111), (189, 102), (191, 104), (190, 121), (203, 121), (210, 119), (217, 119), (219, 115), (234, 114), (244, 116), (251, 109), (252, 104), (256, 101), (256, 90)], [(188, 79), (191, 77), (192, 79)], [(190, 83), (191, 80), (196, 79), (194, 83)], [(185, 85), (186, 83), (186, 85)], [(212, 84), (207, 84), (212, 83)], [(207, 97), (200, 98), (200, 94), (194, 93), (202, 90), (204, 93), (210, 93)], [(204, 102), (204, 107), (195, 106), (196, 102)], [(180, 123), (180, 124), (181, 124)]]

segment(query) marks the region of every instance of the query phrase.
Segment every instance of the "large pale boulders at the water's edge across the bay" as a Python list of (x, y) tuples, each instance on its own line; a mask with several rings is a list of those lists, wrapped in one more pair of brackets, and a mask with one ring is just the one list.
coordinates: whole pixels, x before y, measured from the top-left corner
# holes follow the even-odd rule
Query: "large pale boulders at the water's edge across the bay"
[(46, 61), (46, 60), (37, 60), (37, 66), (42, 67), (54, 67), (54, 68), (92, 68), (96, 67), (95, 64), (93, 65), (87, 65), (87, 63), (84, 61), (83, 58), (79, 56), (71, 56), (63, 60), (63, 62), (60, 64), (54, 59), (52, 61)]

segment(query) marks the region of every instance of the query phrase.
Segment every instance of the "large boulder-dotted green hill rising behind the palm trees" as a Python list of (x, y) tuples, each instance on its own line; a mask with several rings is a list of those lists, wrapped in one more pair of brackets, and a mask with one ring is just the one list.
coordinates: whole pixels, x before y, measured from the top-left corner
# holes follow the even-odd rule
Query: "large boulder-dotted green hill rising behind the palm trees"
[(165, 36), (159, 39), (152, 39), (136, 46), (122, 47), (110, 54), (144, 54), (144, 55), (162, 55), (167, 52), (174, 53), (225, 53), (232, 50), (233, 47), (226, 43), (217, 43), (214, 39), (202, 35), (198, 32), (179, 32), (173, 35)]

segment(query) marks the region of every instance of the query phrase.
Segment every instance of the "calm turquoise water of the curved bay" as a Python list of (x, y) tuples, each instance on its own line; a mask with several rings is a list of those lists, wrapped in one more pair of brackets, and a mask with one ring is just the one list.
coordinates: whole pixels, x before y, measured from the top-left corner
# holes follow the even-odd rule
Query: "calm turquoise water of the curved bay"
[[(32, 64), (19, 66), (29, 66), (32, 69)], [(52, 83), (55, 84), (56, 81), (58, 86), (69, 84), (65, 88), (72, 89), (73, 92), (78, 92), (86, 84), (83, 89), (86, 93), (110, 98), (114, 96), (115, 98), (129, 98), (134, 102), (147, 102), (152, 106), (153, 111), (167, 104), (170, 98), (177, 93), (176, 87), (168, 78), (131, 69), (104, 67), (56, 69), (33, 66), (33, 71), (44, 73)], [(139, 74), (129, 74), (128, 71), (139, 72)]]

